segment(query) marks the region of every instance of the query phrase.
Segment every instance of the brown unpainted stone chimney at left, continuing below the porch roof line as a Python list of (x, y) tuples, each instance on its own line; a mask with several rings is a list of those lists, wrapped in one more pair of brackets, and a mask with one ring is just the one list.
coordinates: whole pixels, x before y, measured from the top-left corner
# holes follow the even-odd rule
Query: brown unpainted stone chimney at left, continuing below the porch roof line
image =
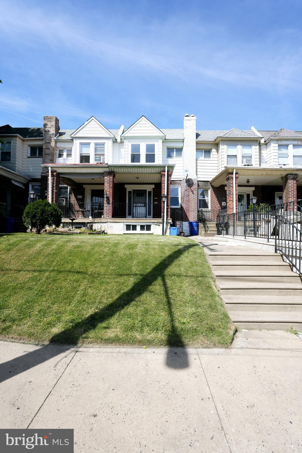
[[(54, 138), (60, 130), (59, 120), (56, 116), (44, 116), (43, 122), (43, 164), (55, 164), (57, 146)], [(41, 173), (41, 199), (48, 198), (48, 171), (42, 169)]]

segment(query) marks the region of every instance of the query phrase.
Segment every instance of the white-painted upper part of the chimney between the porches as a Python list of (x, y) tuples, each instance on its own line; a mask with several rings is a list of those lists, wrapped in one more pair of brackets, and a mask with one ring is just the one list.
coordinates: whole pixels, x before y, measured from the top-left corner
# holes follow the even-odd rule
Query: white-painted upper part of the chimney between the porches
[(196, 116), (188, 114), (183, 119), (183, 162), (190, 170), (190, 178), (196, 175)]

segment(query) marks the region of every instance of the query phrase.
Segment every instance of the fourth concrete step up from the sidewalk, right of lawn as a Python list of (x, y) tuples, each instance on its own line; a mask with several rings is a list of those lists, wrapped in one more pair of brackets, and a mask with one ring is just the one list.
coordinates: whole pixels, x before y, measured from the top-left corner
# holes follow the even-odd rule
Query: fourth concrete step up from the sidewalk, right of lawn
[[(216, 270), (216, 267), (217, 266), (212, 267), (212, 272), (217, 278), (218, 277), (229, 277), (229, 279), (233, 279), (233, 278), (237, 278), (237, 277), (238, 278), (246, 277), (247, 281), (249, 281), (249, 280), (252, 280), (252, 278), (254, 277), (254, 280), (258, 281), (259, 277), (261, 277), (261, 278), (262, 277), (276, 277), (276, 278), (278, 278), (278, 280), (276, 280), (278, 282), (285, 281), (285, 280), (283, 280), (283, 278), (286, 278), (286, 279), (291, 278), (291, 279), (300, 280), (298, 274), (292, 272), (292, 270), (289, 266), (288, 266), (288, 268), (286, 268), (286, 267), (281, 268), (281, 270), (271, 268), (271, 267), (259, 269), (256, 266), (252, 270), (245, 270), (245, 269), (242, 269), (242, 267), (236, 268), (236, 266), (235, 266), (235, 269), (231, 269), (231, 270), (224, 270), (224, 269), (221, 270), (221, 267), (219, 268), (219, 270), (218, 269)], [(231, 267), (231, 266), (228, 266), (228, 267)], [(249, 266), (245, 266), (245, 267), (249, 267)], [(288, 269), (289, 269), (289, 271), (288, 271)]]

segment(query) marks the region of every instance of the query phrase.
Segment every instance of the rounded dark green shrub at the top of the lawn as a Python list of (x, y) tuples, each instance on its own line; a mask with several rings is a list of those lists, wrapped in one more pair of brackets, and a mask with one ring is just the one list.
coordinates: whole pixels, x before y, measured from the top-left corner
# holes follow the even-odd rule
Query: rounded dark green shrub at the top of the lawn
[(22, 218), (25, 226), (36, 228), (37, 234), (40, 234), (46, 225), (60, 226), (62, 222), (62, 214), (58, 206), (47, 200), (29, 203), (24, 209)]

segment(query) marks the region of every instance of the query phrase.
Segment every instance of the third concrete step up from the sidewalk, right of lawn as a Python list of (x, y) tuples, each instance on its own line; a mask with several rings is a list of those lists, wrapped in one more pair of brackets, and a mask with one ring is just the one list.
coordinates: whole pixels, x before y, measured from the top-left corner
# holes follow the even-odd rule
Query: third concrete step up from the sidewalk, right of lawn
[(229, 288), (229, 289), (220, 289), (220, 294), (222, 299), (225, 297), (240, 296), (240, 297), (251, 297), (251, 296), (263, 296), (263, 297), (273, 297), (273, 296), (297, 296), (302, 297), (302, 286), (295, 285), (295, 288), (286, 288), (276, 289), (276, 286), (273, 288)]

